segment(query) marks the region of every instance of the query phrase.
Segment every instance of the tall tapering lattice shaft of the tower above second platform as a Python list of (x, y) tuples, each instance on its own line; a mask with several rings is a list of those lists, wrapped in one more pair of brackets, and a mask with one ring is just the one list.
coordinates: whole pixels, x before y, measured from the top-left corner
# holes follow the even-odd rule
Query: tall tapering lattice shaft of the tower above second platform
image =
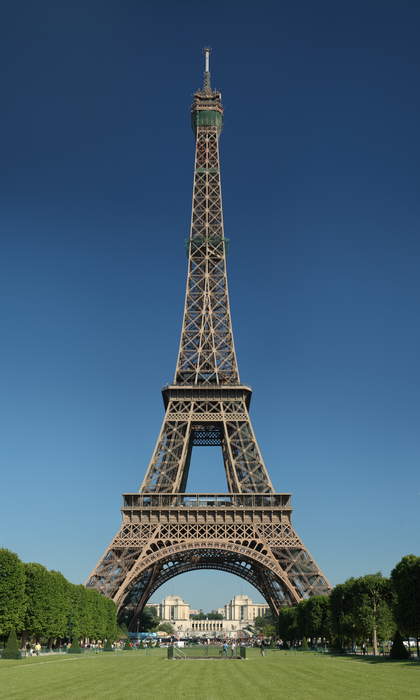
[[(197, 93), (193, 110), (222, 114), (219, 93)], [(226, 277), (217, 124), (196, 126), (184, 320), (176, 384), (239, 384)]]

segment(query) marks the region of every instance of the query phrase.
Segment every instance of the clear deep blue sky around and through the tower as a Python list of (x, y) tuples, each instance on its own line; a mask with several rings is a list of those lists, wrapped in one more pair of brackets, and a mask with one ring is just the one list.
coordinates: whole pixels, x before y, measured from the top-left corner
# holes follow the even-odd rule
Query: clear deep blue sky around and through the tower
[[(418, 554), (419, 4), (1, 14), (1, 544), (81, 582), (143, 478), (211, 45), (235, 339), (275, 487), (334, 584)], [(195, 452), (189, 488), (223, 490), (219, 456)], [(249, 590), (200, 572), (154, 597), (206, 609)]]

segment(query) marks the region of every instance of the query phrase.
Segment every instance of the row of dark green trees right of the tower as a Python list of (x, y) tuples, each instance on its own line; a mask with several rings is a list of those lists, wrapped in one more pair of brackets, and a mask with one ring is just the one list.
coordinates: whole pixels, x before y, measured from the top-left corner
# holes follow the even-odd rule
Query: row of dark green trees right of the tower
[(295, 643), (325, 640), (336, 648), (391, 639), (396, 630), (420, 638), (420, 557), (403, 557), (390, 578), (380, 573), (351, 578), (329, 596), (314, 596), (293, 608), (283, 608), (279, 619), (268, 615), (256, 625), (267, 635), (278, 634)]

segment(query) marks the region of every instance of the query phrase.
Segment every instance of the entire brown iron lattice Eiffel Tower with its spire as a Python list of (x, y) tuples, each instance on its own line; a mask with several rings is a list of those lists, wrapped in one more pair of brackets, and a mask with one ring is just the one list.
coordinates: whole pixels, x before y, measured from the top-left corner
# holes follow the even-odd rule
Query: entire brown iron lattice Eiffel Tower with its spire
[[(290, 494), (276, 493), (239, 379), (226, 277), (220, 184), (221, 94), (204, 49), (191, 107), (195, 171), (184, 318), (165, 417), (140, 490), (125, 493), (122, 524), (87, 586), (113, 598), (131, 630), (151, 595), (194, 569), (236, 574), (281, 607), (329, 593), (330, 585), (291, 524)], [(222, 449), (227, 493), (186, 493), (194, 447)]]

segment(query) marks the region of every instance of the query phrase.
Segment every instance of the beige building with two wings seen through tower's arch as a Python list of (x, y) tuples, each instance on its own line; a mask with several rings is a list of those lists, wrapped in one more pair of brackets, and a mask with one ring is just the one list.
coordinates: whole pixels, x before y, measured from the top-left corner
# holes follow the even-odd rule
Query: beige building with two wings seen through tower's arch
[(180, 596), (169, 595), (161, 603), (149, 603), (162, 622), (170, 622), (178, 636), (237, 637), (239, 632), (253, 625), (255, 618), (269, 611), (267, 603), (254, 603), (247, 595), (236, 595), (216, 612), (223, 620), (193, 620), (200, 610), (193, 610)]

